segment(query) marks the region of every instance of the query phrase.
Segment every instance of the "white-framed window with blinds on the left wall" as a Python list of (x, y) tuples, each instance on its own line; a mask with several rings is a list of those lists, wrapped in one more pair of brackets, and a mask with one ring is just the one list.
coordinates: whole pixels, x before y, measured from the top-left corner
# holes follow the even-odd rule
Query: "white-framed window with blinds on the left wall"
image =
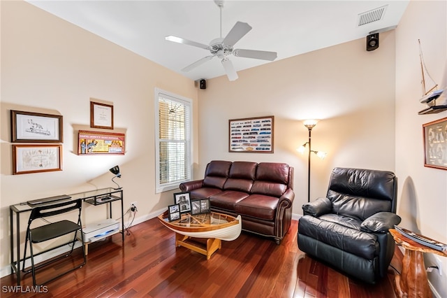
[(191, 100), (156, 89), (156, 192), (191, 180)]

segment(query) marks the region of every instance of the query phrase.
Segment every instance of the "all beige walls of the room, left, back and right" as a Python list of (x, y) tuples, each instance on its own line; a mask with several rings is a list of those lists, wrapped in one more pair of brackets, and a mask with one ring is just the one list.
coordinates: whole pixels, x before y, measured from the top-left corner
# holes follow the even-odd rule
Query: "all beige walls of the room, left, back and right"
[[(113, 186), (108, 169), (115, 164), (122, 169), (124, 204), (138, 201), (140, 218), (170, 204), (172, 192), (154, 190), (154, 87), (194, 101), (196, 178), (212, 159), (287, 162), (295, 167), (293, 213), (302, 214), (307, 156), (295, 149), (307, 141), (301, 120), (318, 118), (312, 147), (328, 157), (312, 157), (312, 198), (325, 195), (335, 166), (392, 170), (400, 178), (402, 224), (447, 242), (447, 172), (423, 167), (421, 127), (447, 113), (417, 115), (423, 105), (415, 95), (417, 38), (432, 76), (445, 76), (445, 20), (445, 1), (412, 1), (397, 30), (381, 34), (378, 50), (365, 51), (361, 38), (240, 71), (235, 82), (214, 78), (198, 92), (191, 80), (28, 3), (1, 1), (0, 267), (9, 262), (10, 204)], [(126, 155), (74, 153), (78, 129), (90, 129), (91, 97), (114, 104), (115, 132), (126, 133)], [(64, 116), (64, 171), (12, 175), (10, 109)], [(265, 115), (275, 116), (274, 153), (229, 153), (228, 120)], [(85, 208), (85, 222), (103, 216), (97, 208)], [(446, 260), (443, 265), (446, 276)], [(429, 277), (447, 296), (441, 278)]]

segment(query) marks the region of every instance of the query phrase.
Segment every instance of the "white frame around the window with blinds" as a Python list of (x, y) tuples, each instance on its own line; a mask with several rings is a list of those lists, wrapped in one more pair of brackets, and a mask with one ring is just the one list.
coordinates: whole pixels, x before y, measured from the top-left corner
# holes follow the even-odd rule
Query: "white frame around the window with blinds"
[[(159, 97), (164, 97), (166, 99), (170, 99), (172, 101), (178, 101), (179, 104), (183, 104), (185, 106), (189, 106), (189, 140), (186, 140), (186, 179), (184, 180), (176, 180), (171, 183), (161, 183), (160, 182), (160, 136), (159, 136)], [(193, 177), (193, 160), (192, 160), (192, 131), (193, 131), (193, 101), (189, 98), (182, 97), (178, 94), (174, 94), (172, 92), (168, 92), (166, 90), (161, 90), (159, 88), (155, 88), (154, 95), (154, 103), (155, 103), (155, 192), (166, 192), (168, 190), (175, 190), (179, 187), (179, 184), (182, 182), (186, 182), (192, 179)]]

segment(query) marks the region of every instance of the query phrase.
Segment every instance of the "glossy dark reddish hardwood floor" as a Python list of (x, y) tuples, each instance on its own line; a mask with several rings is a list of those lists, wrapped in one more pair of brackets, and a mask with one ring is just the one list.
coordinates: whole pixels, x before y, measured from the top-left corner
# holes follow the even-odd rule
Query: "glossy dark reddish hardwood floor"
[[(48, 283), (40, 293), (21, 297), (395, 297), (391, 267), (388, 278), (377, 285), (347, 278), (298, 250), (297, 228), (293, 220), (280, 245), (242, 232), (235, 241), (222, 241), (207, 261), (175, 248), (174, 233), (154, 218), (131, 227), (124, 246), (121, 234), (91, 244), (85, 267)], [(80, 249), (71, 262), (79, 260)], [(396, 250), (392, 265), (400, 271), (400, 264), (402, 253)], [(42, 269), (37, 281), (65, 267)], [(15, 276), (0, 282), (1, 297), (18, 296), (8, 292)], [(27, 274), (20, 290), (32, 291), (31, 285)]]

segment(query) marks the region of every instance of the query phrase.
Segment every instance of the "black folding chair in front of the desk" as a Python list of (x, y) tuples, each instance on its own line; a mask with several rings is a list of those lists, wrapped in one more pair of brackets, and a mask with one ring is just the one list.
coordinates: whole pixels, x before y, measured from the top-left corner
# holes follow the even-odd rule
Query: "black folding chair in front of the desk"
[[(45, 267), (48, 264), (52, 264), (53, 262), (61, 260), (64, 257), (68, 257), (69, 255), (71, 255), (71, 253), (73, 253), (73, 249), (75, 247), (75, 241), (76, 241), (76, 236), (78, 235), (78, 231), (80, 231), (79, 238), (82, 241), (82, 255), (84, 256), (84, 262), (82, 262), (82, 264), (80, 264), (74, 268), (69, 269), (68, 271), (59, 273), (57, 276), (50, 278), (49, 280), (41, 283), (41, 285), (44, 283), (48, 283), (50, 281), (54, 281), (54, 279), (59, 278), (60, 276), (63, 276), (64, 274), (67, 274), (68, 272), (71, 272), (75, 269), (78, 269), (78, 268), (84, 266), (85, 263), (87, 262), (87, 259), (85, 257), (84, 240), (82, 239), (81, 208), (82, 208), (82, 199), (77, 199), (77, 200), (73, 200), (73, 201), (64, 201), (62, 203), (51, 204), (51, 205), (46, 205), (46, 206), (36, 206), (31, 211), (31, 215), (29, 215), (29, 220), (28, 220), (27, 237), (25, 239), (22, 271), (25, 273), (32, 272), (33, 285), (36, 285), (36, 269)], [(68, 213), (68, 212), (75, 211), (75, 210), (78, 210), (78, 222), (73, 222), (71, 220), (59, 220), (57, 222), (51, 222), (47, 225), (31, 228), (31, 223), (38, 218), (42, 218), (43, 220), (47, 221), (46, 218), (50, 218), (54, 215), (60, 215), (60, 214)], [(41, 243), (41, 242), (48, 241), (50, 239), (55, 239), (60, 236), (64, 236), (66, 234), (70, 234), (73, 232), (75, 234), (73, 237), (73, 241), (63, 243), (59, 246), (55, 246), (53, 248), (44, 250), (44, 251), (34, 255), (33, 243)], [(31, 254), (29, 257), (29, 258), (31, 258), (31, 269), (25, 270), (25, 260), (27, 260), (28, 241), (29, 241), (29, 251)], [(69, 252), (59, 255), (58, 257), (52, 258), (50, 260), (47, 260), (46, 262), (42, 262), (41, 264), (38, 264), (38, 266), (36, 266), (34, 264), (34, 257), (36, 257), (37, 255), (47, 253), (50, 250), (60, 248), (61, 246), (66, 246), (67, 244), (70, 244), (70, 243), (71, 243), (71, 250)]]

